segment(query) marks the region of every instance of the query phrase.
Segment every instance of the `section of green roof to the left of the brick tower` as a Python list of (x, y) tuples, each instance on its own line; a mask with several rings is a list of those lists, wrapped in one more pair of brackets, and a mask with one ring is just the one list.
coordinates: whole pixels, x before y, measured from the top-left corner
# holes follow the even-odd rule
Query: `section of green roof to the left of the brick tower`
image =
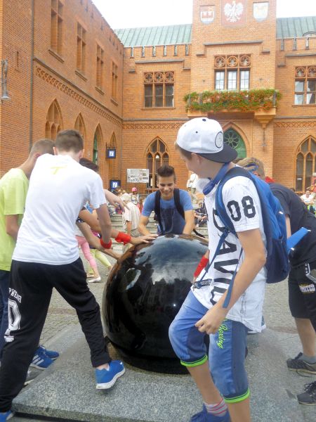
[(126, 28), (114, 30), (124, 47), (164, 46), (191, 42), (192, 25), (168, 25), (162, 27)]

